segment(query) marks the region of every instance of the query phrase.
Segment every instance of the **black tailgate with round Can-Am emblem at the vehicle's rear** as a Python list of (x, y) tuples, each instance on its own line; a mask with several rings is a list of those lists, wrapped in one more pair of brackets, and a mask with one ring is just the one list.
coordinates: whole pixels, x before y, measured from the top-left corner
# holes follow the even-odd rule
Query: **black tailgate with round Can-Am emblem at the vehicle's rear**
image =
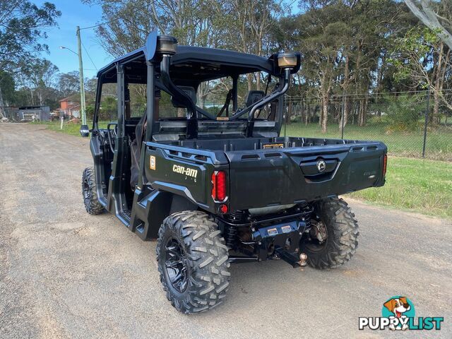
[(385, 154), (379, 142), (226, 152), (230, 208), (300, 203), (382, 186)]

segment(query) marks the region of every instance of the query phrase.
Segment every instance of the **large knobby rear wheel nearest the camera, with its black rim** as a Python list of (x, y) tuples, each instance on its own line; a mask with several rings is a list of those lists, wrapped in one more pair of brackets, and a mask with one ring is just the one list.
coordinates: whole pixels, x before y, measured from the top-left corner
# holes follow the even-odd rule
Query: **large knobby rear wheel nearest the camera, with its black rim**
[(169, 215), (158, 232), (156, 252), (160, 282), (178, 311), (199, 313), (222, 302), (230, 280), (228, 249), (209, 215)]

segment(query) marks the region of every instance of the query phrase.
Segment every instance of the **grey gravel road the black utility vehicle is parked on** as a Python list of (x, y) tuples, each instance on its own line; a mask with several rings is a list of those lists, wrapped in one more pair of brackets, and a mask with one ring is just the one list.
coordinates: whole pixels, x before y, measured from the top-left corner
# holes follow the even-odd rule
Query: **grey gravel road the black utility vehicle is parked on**
[[(155, 242), (85, 212), (90, 163), (88, 138), (0, 124), (0, 338), (452, 338), (451, 220), (350, 201), (352, 261), (233, 265), (225, 303), (186, 316), (162, 292)], [(441, 331), (358, 331), (393, 295), (444, 316)]]

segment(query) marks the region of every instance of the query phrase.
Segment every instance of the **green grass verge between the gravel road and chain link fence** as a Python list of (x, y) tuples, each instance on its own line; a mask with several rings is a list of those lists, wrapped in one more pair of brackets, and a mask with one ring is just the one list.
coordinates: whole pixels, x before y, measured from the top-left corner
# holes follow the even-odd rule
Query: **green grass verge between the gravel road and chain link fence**
[(452, 163), (388, 157), (385, 186), (349, 196), (391, 208), (452, 218)]

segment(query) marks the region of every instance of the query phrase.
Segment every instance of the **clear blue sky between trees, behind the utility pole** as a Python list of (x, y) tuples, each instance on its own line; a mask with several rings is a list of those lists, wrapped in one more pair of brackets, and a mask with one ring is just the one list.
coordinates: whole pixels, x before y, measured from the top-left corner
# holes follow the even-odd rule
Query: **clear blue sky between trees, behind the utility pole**
[[(45, 1), (34, 0), (32, 2), (41, 5)], [(99, 23), (102, 21), (102, 10), (100, 6), (88, 6), (82, 4), (80, 0), (50, 0), (50, 2), (55, 4), (61, 11), (61, 17), (58, 19), (59, 27), (47, 30), (48, 38), (43, 42), (49, 45), (50, 54), (42, 54), (42, 57), (52, 61), (62, 73), (78, 71), (76, 54), (69, 52), (67, 49), (60, 49), (59, 46), (65, 46), (77, 52), (77, 25), (83, 28)], [(81, 30), (81, 39), (97, 69), (102, 68), (112, 59), (100, 47), (94, 29)], [(95, 66), (93, 66), (84, 49), (82, 49), (82, 55), (84, 76), (92, 78), (97, 73)]]

